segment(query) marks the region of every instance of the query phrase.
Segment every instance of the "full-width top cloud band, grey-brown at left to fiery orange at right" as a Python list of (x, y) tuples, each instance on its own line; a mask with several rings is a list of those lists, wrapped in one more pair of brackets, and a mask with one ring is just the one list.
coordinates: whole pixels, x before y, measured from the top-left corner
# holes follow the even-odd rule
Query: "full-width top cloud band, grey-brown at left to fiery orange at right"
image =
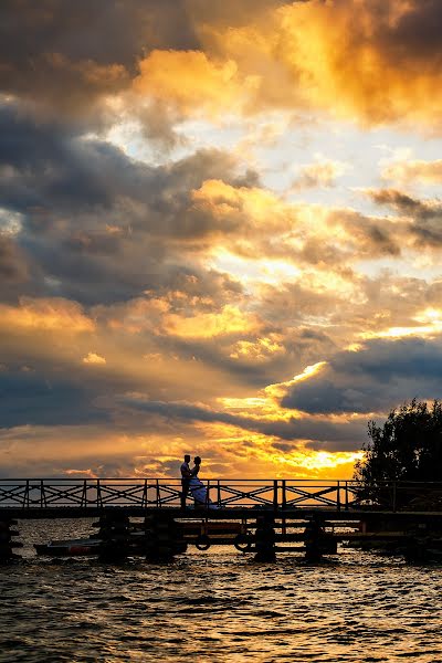
[(0, 10), (0, 85), (40, 116), (99, 127), (124, 108), (169, 141), (169, 119), (274, 108), (440, 130), (438, 0), (20, 8), (6, 0)]

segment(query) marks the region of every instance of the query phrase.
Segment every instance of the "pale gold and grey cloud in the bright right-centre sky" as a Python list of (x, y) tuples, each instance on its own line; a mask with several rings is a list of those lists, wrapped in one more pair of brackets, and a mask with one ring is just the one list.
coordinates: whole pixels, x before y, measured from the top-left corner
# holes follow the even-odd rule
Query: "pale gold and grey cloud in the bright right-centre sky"
[(244, 259), (286, 260), (328, 270), (346, 261), (400, 254), (397, 223), (351, 208), (290, 203), (262, 188), (218, 180), (204, 181), (192, 192), (192, 201), (191, 212), (212, 228), (213, 252), (218, 240)]

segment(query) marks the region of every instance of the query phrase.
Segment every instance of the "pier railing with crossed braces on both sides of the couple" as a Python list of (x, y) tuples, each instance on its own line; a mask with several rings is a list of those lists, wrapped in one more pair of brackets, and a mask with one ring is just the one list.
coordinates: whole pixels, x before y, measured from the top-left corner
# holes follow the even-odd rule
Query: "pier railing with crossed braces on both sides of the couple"
[[(442, 512), (442, 482), (364, 486), (345, 480), (210, 478), (202, 483), (206, 506), (219, 508)], [(176, 478), (3, 478), (0, 508), (179, 507), (180, 493), (181, 482)], [(192, 505), (191, 495), (187, 503)]]

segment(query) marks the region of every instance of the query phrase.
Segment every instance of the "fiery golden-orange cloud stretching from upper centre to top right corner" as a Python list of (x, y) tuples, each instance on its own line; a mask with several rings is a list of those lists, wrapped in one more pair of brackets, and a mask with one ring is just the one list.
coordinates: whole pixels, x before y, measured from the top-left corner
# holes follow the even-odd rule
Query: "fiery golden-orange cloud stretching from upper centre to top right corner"
[[(198, 23), (201, 51), (157, 50), (139, 63), (137, 94), (183, 115), (221, 117), (317, 108), (364, 124), (440, 127), (442, 49), (431, 2), (293, 2), (240, 27)], [(433, 17), (433, 22), (438, 17)]]

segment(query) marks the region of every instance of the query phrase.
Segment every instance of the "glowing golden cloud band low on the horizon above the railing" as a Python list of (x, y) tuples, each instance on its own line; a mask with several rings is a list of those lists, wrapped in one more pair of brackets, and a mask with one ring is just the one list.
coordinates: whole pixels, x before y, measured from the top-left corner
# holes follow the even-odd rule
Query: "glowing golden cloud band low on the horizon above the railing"
[[(61, 446), (61, 440), (64, 444)], [(179, 481), (185, 453), (202, 456), (202, 478), (350, 478), (360, 452), (313, 451), (303, 443), (282, 452), (277, 439), (244, 434), (235, 427), (201, 423), (186, 438), (170, 431), (120, 434), (93, 425), (18, 427), (0, 431), (0, 462), (7, 472), (66, 477), (146, 476)], [(93, 444), (91, 443), (93, 441)], [(11, 454), (13, 449), (13, 454)], [(61, 456), (62, 449), (62, 456)]]

